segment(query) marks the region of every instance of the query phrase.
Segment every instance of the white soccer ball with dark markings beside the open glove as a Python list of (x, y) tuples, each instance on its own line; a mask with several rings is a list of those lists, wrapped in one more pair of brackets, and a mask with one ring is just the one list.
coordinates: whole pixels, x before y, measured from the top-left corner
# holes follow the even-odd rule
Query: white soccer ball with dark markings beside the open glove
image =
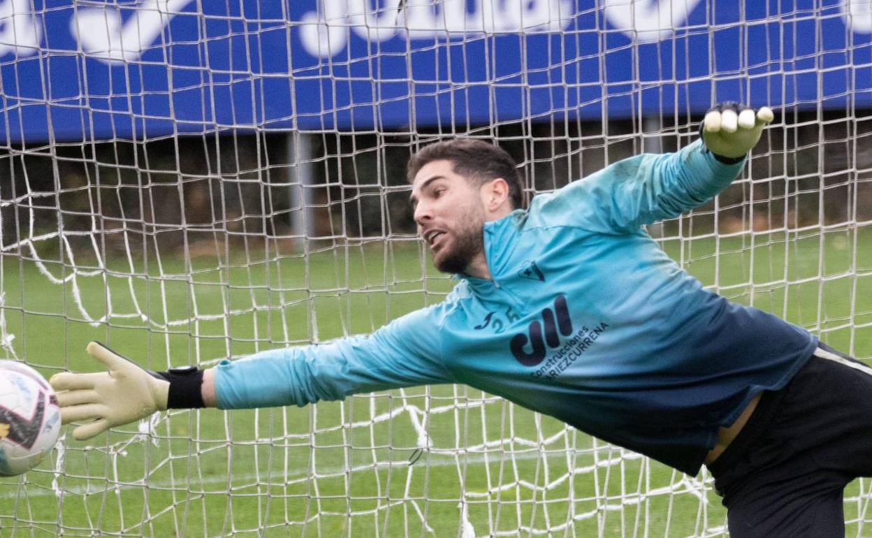
[(30, 366), (0, 360), (0, 476), (39, 465), (59, 434), (60, 407), (51, 386)]

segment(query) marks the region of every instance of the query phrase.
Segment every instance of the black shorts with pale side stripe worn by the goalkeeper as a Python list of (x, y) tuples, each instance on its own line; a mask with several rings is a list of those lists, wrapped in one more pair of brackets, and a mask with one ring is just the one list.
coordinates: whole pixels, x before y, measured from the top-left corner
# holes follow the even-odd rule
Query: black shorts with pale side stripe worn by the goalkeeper
[(842, 538), (844, 488), (872, 476), (872, 368), (821, 344), (709, 470), (732, 538)]

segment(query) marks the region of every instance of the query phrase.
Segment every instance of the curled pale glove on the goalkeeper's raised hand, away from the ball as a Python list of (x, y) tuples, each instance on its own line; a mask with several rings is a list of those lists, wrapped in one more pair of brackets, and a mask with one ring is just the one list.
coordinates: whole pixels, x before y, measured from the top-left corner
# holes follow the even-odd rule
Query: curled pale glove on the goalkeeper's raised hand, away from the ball
[(740, 110), (737, 103), (722, 103), (705, 113), (701, 127), (703, 143), (724, 162), (739, 162), (760, 140), (763, 127), (774, 115), (768, 106), (755, 114), (752, 108)]

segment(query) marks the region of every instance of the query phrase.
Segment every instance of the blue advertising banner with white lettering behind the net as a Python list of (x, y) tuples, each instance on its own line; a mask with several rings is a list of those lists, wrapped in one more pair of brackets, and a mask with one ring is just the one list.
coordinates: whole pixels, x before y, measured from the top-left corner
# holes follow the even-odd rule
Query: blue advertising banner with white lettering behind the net
[(872, 106), (862, 0), (0, 0), (4, 143)]

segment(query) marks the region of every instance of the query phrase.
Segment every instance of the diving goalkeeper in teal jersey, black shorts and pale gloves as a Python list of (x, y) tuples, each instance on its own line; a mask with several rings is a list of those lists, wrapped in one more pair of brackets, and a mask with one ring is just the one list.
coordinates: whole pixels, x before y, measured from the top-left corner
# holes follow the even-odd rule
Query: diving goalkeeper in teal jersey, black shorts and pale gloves
[(328, 344), (150, 372), (100, 344), (103, 373), (59, 373), (88, 439), (169, 408), (307, 405), (463, 383), (695, 475), (731, 535), (844, 534), (843, 489), (872, 475), (872, 370), (799, 327), (707, 291), (643, 225), (728, 186), (773, 119), (726, 104), (677, 153), (621, 160), (521, 209), (508, 153), (483, 141), (409, 161), (419, 233), (458, 283), (442, 303)]

